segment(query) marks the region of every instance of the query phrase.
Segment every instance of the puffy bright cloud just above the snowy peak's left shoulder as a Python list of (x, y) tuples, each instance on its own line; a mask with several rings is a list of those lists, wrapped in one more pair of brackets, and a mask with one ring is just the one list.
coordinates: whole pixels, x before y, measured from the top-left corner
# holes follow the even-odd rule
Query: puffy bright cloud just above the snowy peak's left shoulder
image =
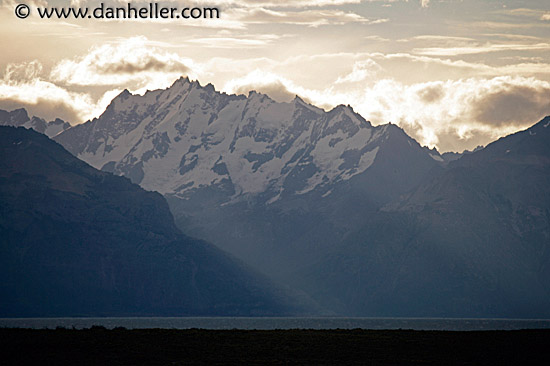
[(94, 47), (82, 57), (62, 60), (50, 77), (67, 85), (129, 85), (155, 88), (191, 74), (192, 61), (166, 52), (145, 37)]

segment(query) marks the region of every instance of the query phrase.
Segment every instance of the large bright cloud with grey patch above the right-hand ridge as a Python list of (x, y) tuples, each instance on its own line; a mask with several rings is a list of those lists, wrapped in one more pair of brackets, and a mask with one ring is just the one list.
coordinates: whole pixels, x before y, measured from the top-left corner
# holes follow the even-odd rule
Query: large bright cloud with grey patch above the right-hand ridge
[(348, 99), (376, 124), (391, 121), (423, 145), (462, 151), (550, 114), (550, 83), (508, 76), (413, 85), (382, 80)]

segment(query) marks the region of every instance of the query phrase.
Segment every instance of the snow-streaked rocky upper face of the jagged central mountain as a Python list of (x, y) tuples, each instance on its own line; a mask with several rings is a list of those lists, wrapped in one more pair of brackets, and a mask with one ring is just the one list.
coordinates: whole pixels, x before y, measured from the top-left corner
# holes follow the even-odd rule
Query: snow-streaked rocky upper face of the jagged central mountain
[(227, 95), (180, 78), (143, 96), (125, 90), (98, 119), (56, 140), (94, 167), (163, 194), (185, 199), (218, 187), (233, 199), (269, 192), (274, 202), (289, 177), (286, 193), (329, 194), (331, 184), (366, 171), (388, 128), (349, 106), (325, 112), (299, 97)]

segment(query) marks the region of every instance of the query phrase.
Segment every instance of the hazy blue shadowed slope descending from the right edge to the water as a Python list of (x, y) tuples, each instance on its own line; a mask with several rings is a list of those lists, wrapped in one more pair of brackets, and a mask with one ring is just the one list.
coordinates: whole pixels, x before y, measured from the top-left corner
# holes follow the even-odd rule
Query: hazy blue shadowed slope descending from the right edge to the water
[(357, 315), (549, 317), (549, 125), (450, 163), (296, 277)]

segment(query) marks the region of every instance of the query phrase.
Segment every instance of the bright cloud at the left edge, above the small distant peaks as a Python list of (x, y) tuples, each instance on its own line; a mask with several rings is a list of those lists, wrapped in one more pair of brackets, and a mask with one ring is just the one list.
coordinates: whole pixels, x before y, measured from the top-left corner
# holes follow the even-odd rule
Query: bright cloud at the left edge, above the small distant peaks
[(24, 107), (30, 115), (62, 118), (80, 123), (89, 117), (95, 103), (89, 95), (68, 91), (42, 78), (37, 61), (7, 65), (0, 80), (0, 109)]

